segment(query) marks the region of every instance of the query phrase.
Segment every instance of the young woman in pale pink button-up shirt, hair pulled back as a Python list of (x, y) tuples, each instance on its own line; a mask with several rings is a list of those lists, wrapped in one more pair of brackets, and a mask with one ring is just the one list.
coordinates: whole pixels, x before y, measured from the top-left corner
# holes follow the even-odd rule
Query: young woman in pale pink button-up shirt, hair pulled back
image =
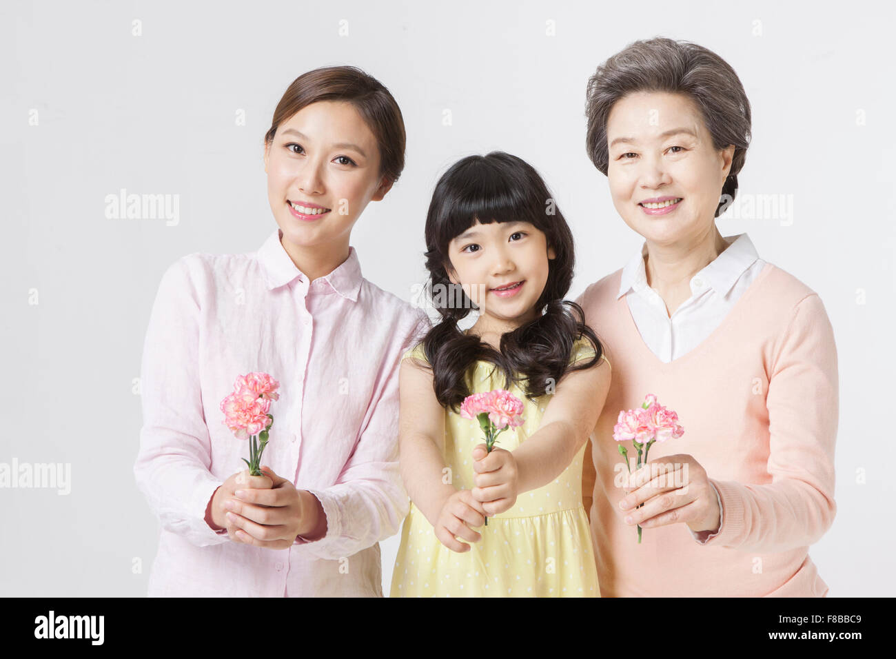
[[(426, 315), (361, 276), (352, 227), (404, 166), (401, 110), (354, 67), (289, 85), (264, 137), (277, 228), (162, 277), (142, 360), (137, 485), (162, 525), (150, 595), (382, 595), (408, 510), (397, 370)], [(221, 195), (232, 191), (221, 190)], [(280, 383), (263, 454), (222, 423), (239, 375)]]

